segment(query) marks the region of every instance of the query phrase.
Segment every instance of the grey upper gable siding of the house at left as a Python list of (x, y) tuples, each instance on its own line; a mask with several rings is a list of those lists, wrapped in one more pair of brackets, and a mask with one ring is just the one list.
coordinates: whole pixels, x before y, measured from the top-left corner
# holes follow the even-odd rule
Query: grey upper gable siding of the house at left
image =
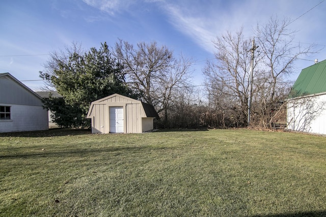
[[(21, 84), (22, 85), (22, 84)], [(10, 77), (0, 79), (0, 103), (42, 106), (43, 103), (33, 91), (24, 88)]]

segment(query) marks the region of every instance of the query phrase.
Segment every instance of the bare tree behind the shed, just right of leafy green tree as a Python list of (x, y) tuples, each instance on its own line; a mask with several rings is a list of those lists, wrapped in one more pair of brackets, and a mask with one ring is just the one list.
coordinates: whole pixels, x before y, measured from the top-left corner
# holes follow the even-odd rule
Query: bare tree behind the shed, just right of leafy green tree
[(167, 47), (158, 47), (156, 42), (141, 42), (135, 48), (128, 42), (119, 40), (115, 45), (115, 55), (124, 66), (126, 82), (143, 94), (146, 103), (157, 105), (158, 80), (168, 73), (174, 64), (173, 53)]

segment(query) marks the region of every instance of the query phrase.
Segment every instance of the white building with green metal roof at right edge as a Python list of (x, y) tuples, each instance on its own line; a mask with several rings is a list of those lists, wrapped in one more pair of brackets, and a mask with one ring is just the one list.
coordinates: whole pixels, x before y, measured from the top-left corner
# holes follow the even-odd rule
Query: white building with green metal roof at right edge
[(326, 60), (303, 69), (287, 100), (287, 129), (326, 134)]

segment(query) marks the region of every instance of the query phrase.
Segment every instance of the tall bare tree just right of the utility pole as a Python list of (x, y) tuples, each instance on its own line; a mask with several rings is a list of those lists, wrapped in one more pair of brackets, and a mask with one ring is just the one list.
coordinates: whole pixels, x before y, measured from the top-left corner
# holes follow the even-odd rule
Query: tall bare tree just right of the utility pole
[(256, 80), (256, 107), (260, 115), (260, 124), (264, 128), (271, 128), (277, 121), (275, 117), (284, 112), (282, 103), (289, 93), (287, 76), (293, 73), (293, 64), (298, 57), (315, 53), (314, 45), (303, 47), (293, 42), (295, 31), (288, 29), (290, 19), (279, 20), (271, 17), (263, 25), (257, 24), (254, 34), (257, 38), (261, 59), (259, 68), (263, 74)]

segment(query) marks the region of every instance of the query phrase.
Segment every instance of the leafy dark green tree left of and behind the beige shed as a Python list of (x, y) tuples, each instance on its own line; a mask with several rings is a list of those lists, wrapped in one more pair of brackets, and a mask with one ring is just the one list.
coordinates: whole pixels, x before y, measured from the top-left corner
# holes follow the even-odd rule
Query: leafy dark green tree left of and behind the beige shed
[(65, 105), (54, 98), (45, 103), (60, 126), (89, 127), (86, 116), (91, 102), (111, 94), (137, 98), (125, 84), (122, 65), (112, 56), (106, 43), (98, 50), (91, 48), (83, 54), (70, 52), (68, 58), (50, 59), (49, 62), (56, 64), (52, 70), (40, 72), (40, 77), (63, 96)]

